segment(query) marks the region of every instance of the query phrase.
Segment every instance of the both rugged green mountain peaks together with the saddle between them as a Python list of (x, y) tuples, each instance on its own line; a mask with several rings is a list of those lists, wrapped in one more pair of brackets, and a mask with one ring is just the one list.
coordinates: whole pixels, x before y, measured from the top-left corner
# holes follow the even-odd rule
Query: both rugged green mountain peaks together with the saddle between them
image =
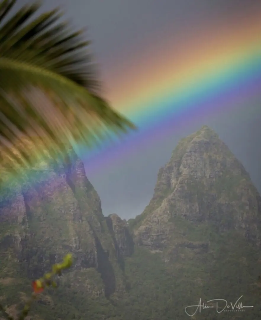
[[(73, 268), (39, 295), (30, 319), (259, 318), (261, 197), (209, 127), (179, 142), (150, 203), (128, 222), (103, 216), (74, 153), (41, 170), (35, 177), (48, 179), (20, 185), (12, 197), (1, 192), (0, 302), (10, 313), (32, 279), (72, 252)], [(218, 313), (212, 301), (214, 308), (186, 309), (192, 317), (185, 312), (200, 299), (223, 299), (220, 311), (241, 296), (251, 308)]]

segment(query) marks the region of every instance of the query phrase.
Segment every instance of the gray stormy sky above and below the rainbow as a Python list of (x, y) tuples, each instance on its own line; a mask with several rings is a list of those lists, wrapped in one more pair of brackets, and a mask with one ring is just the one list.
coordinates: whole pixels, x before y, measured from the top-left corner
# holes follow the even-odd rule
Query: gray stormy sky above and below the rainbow
[[(28, 1), (20, 1), (20, 4)], [(244, 15), (249, 8), (260, 11), (260, 0), (45, 0), (43, 9), (62, 5), (76, 27), (89, 27), (93, 49), (101, 69), (101, 78), (110, 90), (110, 79), (124, 66), (128, 55), (138, 53), (144, 43), (157, 39), (166, 30), (193, 30), (198, 24), (219, 22), (235, 14)], [(177, 44), (178, 45), (178, 44)], [(153, 54), (153, 52), (151, 53)], [(107, 90), (106, 89), (106, 90)], [(261, 92), (261, 88), (260, 88)], [(87, 172), (98, 191), (105, 215), (112, 212), (122, 218), (140, 214), (153, 194), (157, 172), (164, 165), (178, 140), (203, 124), (209, 125), (228, 145), (250, 173), (261, 191), (261, 93), (260, 99), (249, 101), (249, 110), (233, 118), (226, 115), (203, 118), (193, 125), (133, 153), (119, 166), (100, 173)]]

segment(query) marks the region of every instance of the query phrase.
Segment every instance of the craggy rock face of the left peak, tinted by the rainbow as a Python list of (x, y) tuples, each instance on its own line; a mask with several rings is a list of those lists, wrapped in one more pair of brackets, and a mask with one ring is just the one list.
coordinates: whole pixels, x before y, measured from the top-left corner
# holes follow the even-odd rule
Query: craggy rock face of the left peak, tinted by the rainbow
[[(70, 281), (77, 291), (117, 296), (125, 290), (119, 262), (133, 248), (126, 226), (112, 216), (109, 230), (100, 198), (75, 154), (66, 164), (49, 168), (46, 176), (46, 181), (1, 202), (0, 278), (23, 272), (38, 278), (72, 252)], [(94, 272), (102, 280), (99, 288), (90, 280)]]

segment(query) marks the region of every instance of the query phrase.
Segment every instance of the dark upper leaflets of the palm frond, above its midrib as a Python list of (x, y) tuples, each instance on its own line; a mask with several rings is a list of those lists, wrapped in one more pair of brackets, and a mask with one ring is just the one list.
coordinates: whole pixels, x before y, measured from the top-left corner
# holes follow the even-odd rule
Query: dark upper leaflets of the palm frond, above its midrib
[[(4, 2), (12, 4), (8, 11), (16, 3)], [(83, 30), (71, 32), (68, 23), (58, 23), (62, 16), (58, 9), (28, 22), (38, 8), (38, 3), (26, 5), (9, 20), (0, 19), (0, 55), (48, 68), (88, 90), (98, 89), (95, 65), (88, 52), (90, 41), (83, 39)]]

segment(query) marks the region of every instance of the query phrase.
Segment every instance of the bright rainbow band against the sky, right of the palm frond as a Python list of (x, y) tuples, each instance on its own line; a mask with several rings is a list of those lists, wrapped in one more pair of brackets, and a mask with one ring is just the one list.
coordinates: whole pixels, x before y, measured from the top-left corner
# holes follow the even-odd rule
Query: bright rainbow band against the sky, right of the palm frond
[(115, 67), (111, 104), (139, 130), (102, 148), (82, 149), (87, 172), (101, 170), (207, 114), (246, 109), (260, 95), (259, 14), (196, 30), (179, 48), (169, 40), (158, 46), (158, 52), (147, 48), (147, 55), (134, 56), (129, 69)]

